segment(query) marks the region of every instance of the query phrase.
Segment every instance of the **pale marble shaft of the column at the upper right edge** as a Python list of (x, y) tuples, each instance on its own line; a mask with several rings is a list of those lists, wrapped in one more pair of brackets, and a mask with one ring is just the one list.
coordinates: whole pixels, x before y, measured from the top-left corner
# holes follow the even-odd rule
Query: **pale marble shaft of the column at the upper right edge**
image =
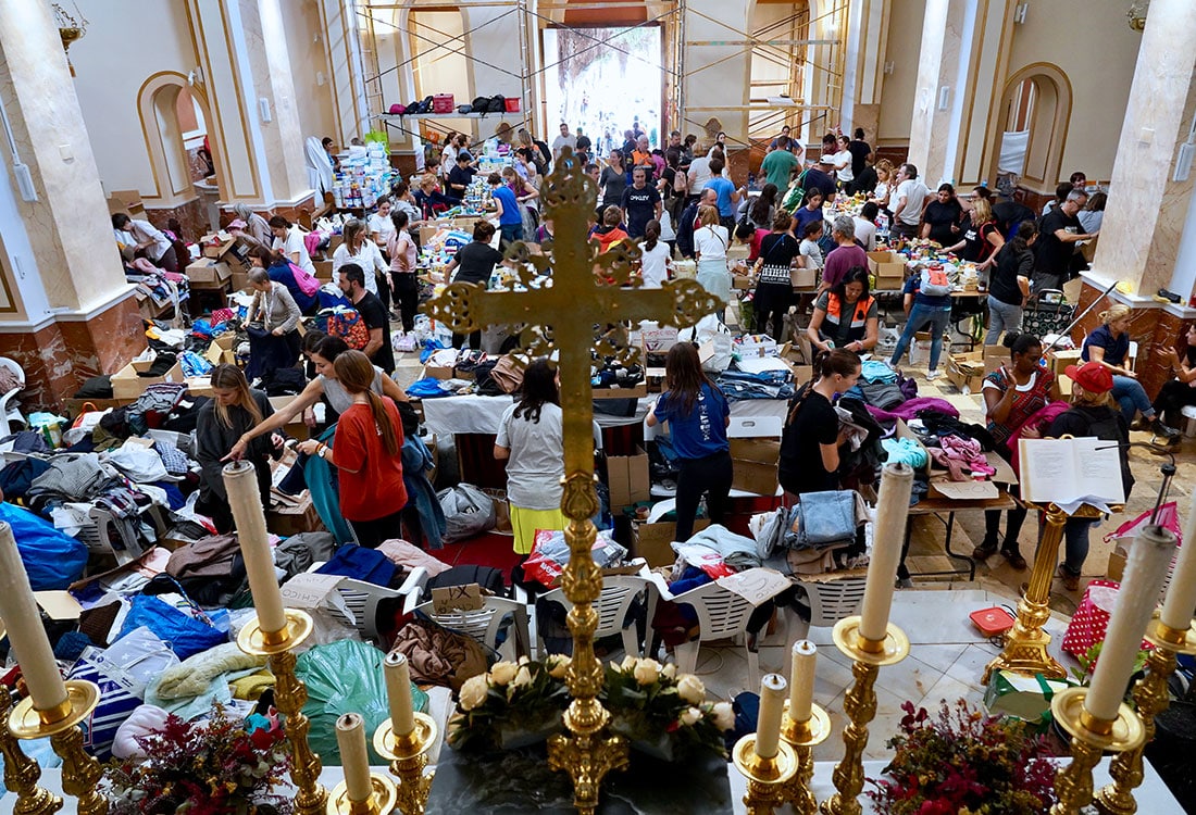
[[(1129, 281), (1143, 296), (1170, 286), (1178, 274), (1196, 178), (1190, 170), (1185, 180), (1174, 180), (1182, 145), (1196, 142), (1194, 39), (1196, 4), (1151, 4), (1109, 186), (1113, 206), (1105, 213), (1092, 263), (1093, 278)], [(1188, 286), (1179, 292), (1185, 301), (1190, 281)]]

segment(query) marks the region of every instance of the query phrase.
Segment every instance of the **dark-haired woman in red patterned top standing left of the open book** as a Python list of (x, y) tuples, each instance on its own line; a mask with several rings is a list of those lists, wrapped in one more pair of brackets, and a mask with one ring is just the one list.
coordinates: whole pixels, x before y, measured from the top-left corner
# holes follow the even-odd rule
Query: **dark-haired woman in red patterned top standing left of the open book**
[[(1057, 402), (1058, 382), (1055, 374), (1043, 368), (1043, 347), (1038, 337), (1029, 333), (1005, 335), (1005, 347), (1009, 349), (1009, 364), (984, 378), (984, 405), (988, 409), (988, 431), (996, 442), (996, 453), (1009, 459), (1007, 442), (1019, 433), (1027, 439), (1039, 437), (1037, 428), (1023, 427), (1026, 421), (1051, 402)], [(1026, 559), (1018, 549), (1018, 535), (1026, 520), (1026, 508), (1009, 510), (1005, 525), (1005, 543), (1001, 554), (1009, 565), (1023, 571)], [(1000, 540), (1001, 510), (984, 510), (984, 540), (972, 550), (972, 558), (983, 560), (994, 554)]]

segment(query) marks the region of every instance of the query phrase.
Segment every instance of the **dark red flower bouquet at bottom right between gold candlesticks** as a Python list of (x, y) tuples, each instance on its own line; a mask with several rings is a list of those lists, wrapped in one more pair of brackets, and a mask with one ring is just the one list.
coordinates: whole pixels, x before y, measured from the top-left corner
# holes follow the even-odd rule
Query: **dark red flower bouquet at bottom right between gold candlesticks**
[(986, 716), (963, 699), (938, 716), (902, 705), (902, 733), (886, 778), (867, 795), (886, 815), (1045, 815), (1055, 802), (1055, 765), (1025, 722)]

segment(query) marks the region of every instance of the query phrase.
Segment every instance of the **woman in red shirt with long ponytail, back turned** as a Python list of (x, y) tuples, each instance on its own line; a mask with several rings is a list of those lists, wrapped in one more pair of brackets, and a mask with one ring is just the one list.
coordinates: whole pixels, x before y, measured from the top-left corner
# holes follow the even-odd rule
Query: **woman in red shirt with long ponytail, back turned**
[(353, 397), (341, 413), (332, 447), (315, 440), (299, 451), (319, 455), (337, 468), (341, 514), (362, 546), (376, 549), (402, 537), (399, 515), (407, 505), (403, 486), (403, 424), (398, 410), (371, 390), (374, 368), (361, 351), (344, 351), (334, 363), (336, 378)]

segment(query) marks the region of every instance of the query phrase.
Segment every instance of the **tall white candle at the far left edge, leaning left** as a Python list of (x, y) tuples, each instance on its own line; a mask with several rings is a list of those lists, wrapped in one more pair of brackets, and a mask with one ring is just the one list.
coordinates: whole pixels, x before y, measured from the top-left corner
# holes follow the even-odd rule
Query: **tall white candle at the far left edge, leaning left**
[[(67, 700), (67, 686), (54, 661), (54, 649), (42, 627), (25, 564), (12, 537), (12, 527), (0, 521), (0, 620), (25, 676), (36, 710), (54, 710)], [(0, 724), (0, 727), (5, 727)]]

